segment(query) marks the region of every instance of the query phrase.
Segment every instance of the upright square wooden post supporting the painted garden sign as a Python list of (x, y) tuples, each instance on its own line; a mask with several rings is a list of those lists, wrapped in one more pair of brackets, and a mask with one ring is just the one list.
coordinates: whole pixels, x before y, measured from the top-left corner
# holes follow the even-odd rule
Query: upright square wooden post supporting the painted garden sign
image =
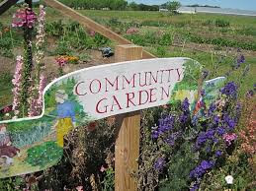
[[(142, 47), (118, 45), (115, 55), (116, 62), (142, 59)], [(121, 124), (115, 147), (115, 191), (136, 191), (136, 178), (130, 174), (138, 169), (139, 111), (121, 115), (119, 120)]]

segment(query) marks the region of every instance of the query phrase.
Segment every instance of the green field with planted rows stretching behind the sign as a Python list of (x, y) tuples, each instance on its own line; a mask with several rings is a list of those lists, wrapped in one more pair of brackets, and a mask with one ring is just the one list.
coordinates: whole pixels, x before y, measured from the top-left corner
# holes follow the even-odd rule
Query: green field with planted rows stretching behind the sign
[[(0, 23), (4, 26), (10, 26), (14, 10), (12, 8), (1, 16)], [(256, 80), (255, 75), (253, 75), (256, 72), (255, 17), (215, 14), (170, 15), (168, 13), (142, 11), (79, 10), (79, 12), (113, 31), (121, 33), (134, 43), (144, 46), (145, 49), (158, 57), (185, 56), (196, 59), (205, 65), (207, 69), (213, 71), (210, 76), (211, 78), (224, 75), (228, 71), (230, 64), (235, 60), (237, 49), (239, 48), (246, 58), (246, 63), (242, 67), (250, 65), (250, 72), (245, 79), (245, 86), (242, 87), (241, 93), (243, 94), (248, 87), (252, 87)], [(46, 14), (46, 22), (50, 26), (47, 29), (47, 41), (50, 43), (48, 50), (53, 50), (63, 37), (70, 38), (70, 35), (64, 33), (64, 36), (61, 36), (61, 34), (52, 36), (50, 32), (57, 30), (58, 26), (56, 24), (60, 20), (67, 25), (70, 25), (73, 21), (70, 21), (68, 18), (63, 19), (60, 13), (51, 8), (47, 8)], [(135, 28), (137, 32), (128, 34), (127, 31), (130, 28)], [(22, 36), (19, 36), (19, 32), (12, 31), (14, 40), (8, 46), (14, 50), (14, 55), (5, 58), (6, 56), (3, 56), (2, 52), (2, 57), (0, 58), (1, 65), (9, 65), (8, 62), (12, 63), (15, 55), (21, 52), (20, 41)], [(1, 42), (3, 47), (5, 41)], [(11, 44), (13, 46), (10, 46)], [(113, 48), (115, 47), (113, 42), (109, 42), (108, 45)], [(107, 44), (99, 44), (98, 46), (107, 46)], [(94, 49), (97, 50), (97, 48)], [(79, 48), (78, 52), (77, 49), (73, 48), (74, 54), (86, 53), (94, 62), (112, 61), (99, 59), (100, 55), (95, 56), (95, 52), (90, 52), (90, 49), (93, 48)], [(47, 62), (53, 62), (54, 60), (48, 58), (52, 58), (50, 56), (56, 56), (57, 54), (57, 52), (51, 52), (50, 55), (47, 55)], [(54, 63), (51, 64), (53, 65)], [(10, 77), (6, 74), (3, 75), (3, 73), (8, 70), (13, 71), (13, 69), (14, 64), (11, 67), (1, 69), (1, 87), (5, 85), (5, 88), (0, 94), (0, 105), (11, 101)], [(72, 68), (72, 70), (75, 69), (76, 67)], [(236, 75), (232, 75), (232, 78), (236, 80)]]

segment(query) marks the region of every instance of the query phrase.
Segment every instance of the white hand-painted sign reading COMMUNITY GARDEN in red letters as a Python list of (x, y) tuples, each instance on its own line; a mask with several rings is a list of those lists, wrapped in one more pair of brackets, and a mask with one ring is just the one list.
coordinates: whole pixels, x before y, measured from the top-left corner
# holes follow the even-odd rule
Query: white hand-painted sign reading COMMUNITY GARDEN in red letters
[(63, 136), (90, 120), (197, 97), (201, 66), (189, 58), (136, 60), (82, 69), (50, 83), (43, 114), (0, 121), (0, 177), (43, 170), (62, 156)]

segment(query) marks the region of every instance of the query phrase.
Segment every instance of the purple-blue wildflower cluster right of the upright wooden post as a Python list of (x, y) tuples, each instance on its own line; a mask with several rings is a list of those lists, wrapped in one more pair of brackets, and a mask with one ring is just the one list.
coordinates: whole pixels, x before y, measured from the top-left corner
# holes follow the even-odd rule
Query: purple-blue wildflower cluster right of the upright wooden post
[[(208, 95), (209, 90), (202, 90), (194, 104), (185, 98), (171, 107), (163, 107), (165, 110), (150, 129), (155, 145), (148, 148), (158, 157), (149, 157), (148, 151), (143, 156), (153, 158), (151, 167), (155, 172), (150, 176), (160, 181), (168, 171), (168, 188), (177, 184), (179, 189), (198, 190), (205, 174), (221, 165), (236, 143), (235, 127), (241, 113), (237, 90), (237, 85), (229, 82), (216, 90), (214, 97)], [(182, 178), (184, 181), (179, 183)]]

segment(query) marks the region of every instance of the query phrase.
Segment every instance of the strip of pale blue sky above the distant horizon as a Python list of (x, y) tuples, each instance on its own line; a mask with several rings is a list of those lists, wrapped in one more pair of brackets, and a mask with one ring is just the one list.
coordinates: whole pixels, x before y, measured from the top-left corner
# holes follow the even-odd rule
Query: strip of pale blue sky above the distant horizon
[[(163, 4), (168, 0), (128, 0), (128, 2), (144, 3), (144, 4)], [(180, 0), (182, 5), (200, 4), (200, 5), (216, 5), (221, 8), (233, 8), (243, 10), (256, 11), (256, 0)]]

